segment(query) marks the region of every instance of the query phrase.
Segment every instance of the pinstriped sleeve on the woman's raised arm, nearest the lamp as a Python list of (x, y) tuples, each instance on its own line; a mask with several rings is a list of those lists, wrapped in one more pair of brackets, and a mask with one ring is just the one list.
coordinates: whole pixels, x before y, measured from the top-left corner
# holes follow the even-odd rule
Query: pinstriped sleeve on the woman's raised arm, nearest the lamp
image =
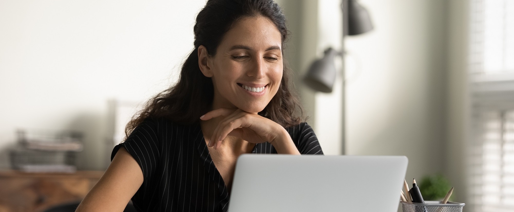
[(302, 155), (323, 155), (318, 138), (312, 127), (303, 122), (287, 129)]

